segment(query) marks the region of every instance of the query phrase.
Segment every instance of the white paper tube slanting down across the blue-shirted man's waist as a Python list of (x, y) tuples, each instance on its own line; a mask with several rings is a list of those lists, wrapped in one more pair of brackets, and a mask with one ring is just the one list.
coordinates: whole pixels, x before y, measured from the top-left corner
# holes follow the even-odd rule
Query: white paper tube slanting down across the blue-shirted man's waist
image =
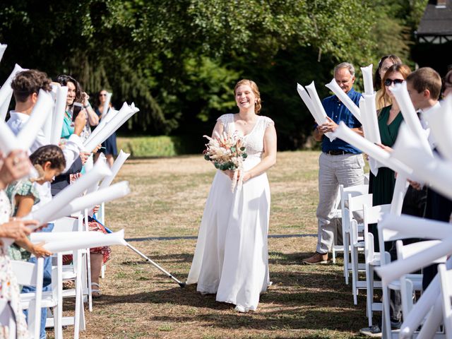
[(407, 165), (403, 164), (399, 160), (391, 159), (388, 152), (379, 148), (379, 146), (371, 143), (370, 141), (362, 138), (357, 133), (352, 131), (350, 128), (345, 126), (343, 121), (340, 121), (338, 128), (334, 131), (333, 135), (336, 138), (340, 138), (346, 143), (350, 143), (355, 148), (362, 150), (362, 152), (367, 153), (370, 157), (381, 163), (385, 167), (391, 168), (393, 171), (398, 173), (403, 173), (410, 179), (413, 177), (412, 169)]

